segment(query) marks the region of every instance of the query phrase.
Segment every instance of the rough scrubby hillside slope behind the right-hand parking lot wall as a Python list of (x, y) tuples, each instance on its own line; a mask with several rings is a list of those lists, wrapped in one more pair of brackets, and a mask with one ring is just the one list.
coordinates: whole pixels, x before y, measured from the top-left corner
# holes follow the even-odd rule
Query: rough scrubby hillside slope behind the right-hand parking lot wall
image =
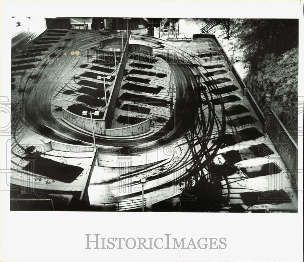
[(298, 53), (297, 47), (281, 55), (266, 54), (248, 81), (248, 89), (263, 112), (266, 94), (271, 95), (271, 108), (291, 134), (297, 130)]

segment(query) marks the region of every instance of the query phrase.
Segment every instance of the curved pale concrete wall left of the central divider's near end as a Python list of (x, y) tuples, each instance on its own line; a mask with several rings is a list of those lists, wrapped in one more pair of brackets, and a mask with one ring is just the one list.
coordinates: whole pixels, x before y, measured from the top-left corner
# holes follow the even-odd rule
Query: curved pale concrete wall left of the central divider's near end
[[(63, 117), (75, 126), (92, 132), (92, 121), (91, 118), (76, 115), (72, 112), (67, 111), (67, 107), (62, 108)], [(103, 119), (93, 119), (94, 132), (96, 134), (105, 135), (105, 121)]]

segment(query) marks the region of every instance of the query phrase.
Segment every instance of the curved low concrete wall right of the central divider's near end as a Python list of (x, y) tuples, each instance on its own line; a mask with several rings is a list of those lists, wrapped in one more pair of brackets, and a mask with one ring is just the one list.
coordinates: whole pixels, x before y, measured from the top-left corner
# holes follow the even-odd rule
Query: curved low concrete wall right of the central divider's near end
[(140, 122), (136, 125), (126, 126), (123, 128), (106, 129), (106, 136), (136, 136), (146, 133), (150, 130), (150, 119)]

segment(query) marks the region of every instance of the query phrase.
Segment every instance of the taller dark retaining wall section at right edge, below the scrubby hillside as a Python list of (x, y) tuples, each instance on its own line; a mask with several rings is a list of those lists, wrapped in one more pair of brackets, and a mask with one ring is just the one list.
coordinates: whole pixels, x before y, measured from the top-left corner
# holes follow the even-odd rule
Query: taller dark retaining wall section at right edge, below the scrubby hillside
[(267, 117), (266, 133), (296, 182), (298, 175), (298, 146), (272, 109)]

